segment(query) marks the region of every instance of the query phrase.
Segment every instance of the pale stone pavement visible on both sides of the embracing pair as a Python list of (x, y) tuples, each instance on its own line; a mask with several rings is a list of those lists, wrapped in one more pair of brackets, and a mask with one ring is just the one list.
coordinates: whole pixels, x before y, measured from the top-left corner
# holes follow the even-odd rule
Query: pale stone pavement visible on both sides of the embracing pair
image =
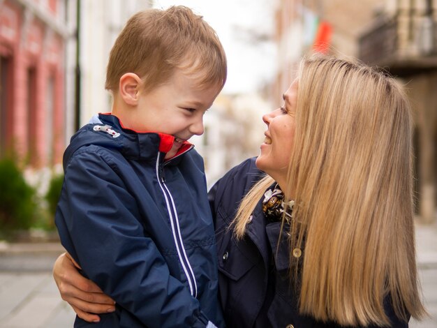
[[(416, 224), (417, 267), (429, 318), (410, 328), (437, 328), (437, 223)], [(0, 328), (73, 327), (75, 313), (59, 296), (52, 264), (57, 241), (0, 241)]]

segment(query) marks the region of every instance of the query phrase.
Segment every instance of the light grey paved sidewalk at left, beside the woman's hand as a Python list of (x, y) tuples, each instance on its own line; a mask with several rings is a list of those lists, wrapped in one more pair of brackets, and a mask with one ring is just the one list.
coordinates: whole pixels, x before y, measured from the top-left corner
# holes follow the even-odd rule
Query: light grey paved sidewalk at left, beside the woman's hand
[(61, 244), (0, 242), (0, 327), (73, 327), (75, 313), (52, 278)]

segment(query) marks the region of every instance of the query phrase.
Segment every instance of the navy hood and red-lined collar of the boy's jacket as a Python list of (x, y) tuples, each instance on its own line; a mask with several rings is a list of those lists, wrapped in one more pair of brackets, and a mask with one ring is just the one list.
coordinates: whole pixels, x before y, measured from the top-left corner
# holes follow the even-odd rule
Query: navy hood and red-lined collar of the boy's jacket
[[(112, 114), (98, 114), (93, 117), (89, 124), (80, 128), (73, 137), (64, 152), (64, 170), (71, 156), (81, 147), (91, 144), (106, 149), (120, 151), (123, 156), (137, 160), (154, 160), (158, 153), (167, 153), (172, 148), (175, 137), (165, 133), (136, 132), (124, 128), (118, 117)], [(186, 153), (194, 146), (190, 142), (184, 142), (177, 154), (169, 158), (167, 162)], [(164, 156), (163, 156), (164, 157)]]

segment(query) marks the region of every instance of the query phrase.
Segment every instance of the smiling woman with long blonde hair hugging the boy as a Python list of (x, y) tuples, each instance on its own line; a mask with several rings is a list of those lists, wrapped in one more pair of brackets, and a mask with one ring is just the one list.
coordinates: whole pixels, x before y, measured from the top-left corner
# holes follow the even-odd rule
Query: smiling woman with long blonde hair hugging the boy
[[(367, 66), (315, 57), (283, 98), (263, 117), (260, 156), (209, 193), (228, 327), (408, 327), (426, 312), (401, 87)], [(66, 260), (54, 268), (64, 299), (98, 313), (105, 306), (70, 290), (91, 283), (62, 278), (75, 271)]]

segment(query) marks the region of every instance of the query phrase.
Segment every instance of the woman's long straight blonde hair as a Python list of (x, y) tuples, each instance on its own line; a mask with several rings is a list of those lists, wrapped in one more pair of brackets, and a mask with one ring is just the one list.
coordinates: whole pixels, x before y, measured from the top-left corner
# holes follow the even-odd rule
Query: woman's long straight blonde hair
[[(290, 254), (299, 278), (299, 311), (339, 325), (390, 325), (422, 318), (413, 225), (412, 121), (401, 87), (350, 60), (302, 60), (296, 131), (287, 189), (295, 195)], [(265, 177), (246, 195), (234, 232), (272, 184)], [(297, 276), (297, 267), (302, 265)]]

